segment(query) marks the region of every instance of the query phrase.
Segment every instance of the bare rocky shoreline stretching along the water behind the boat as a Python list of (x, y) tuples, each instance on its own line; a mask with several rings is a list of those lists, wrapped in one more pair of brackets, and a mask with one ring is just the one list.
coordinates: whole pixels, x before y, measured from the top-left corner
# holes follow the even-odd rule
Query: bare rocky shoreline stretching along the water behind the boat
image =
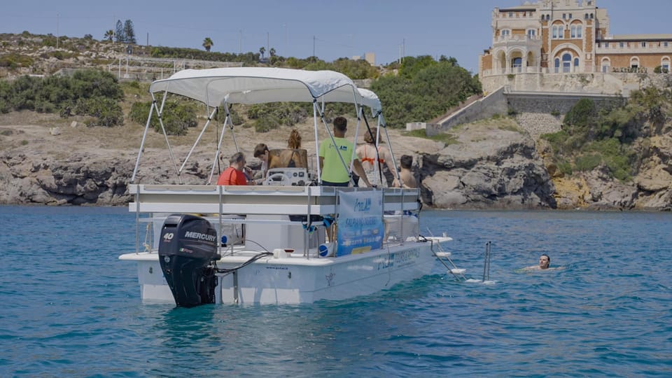
[[(44, 120), (13, 125), (18, 119), (31, 121), (45, 116), (16, 116), (0, 116), (0, 204), (123, 206), (132, 200), (128, 183), (141, 126), (92, 130), (62, 123), (54, 135)], [(396, 157), (414, 155), (421, 199), (437, 209), (672, 209), (670, 137), (651, 139), (653, 143), (643, 148), (645, 169), (631, 183), (610, 179), (601, 169), (566, 178), (545, 162), (545, 146), (533, 137), (559, 124), (540, 124), (534, 115), (522, 118), (463, 125), (454, 130), (456, 141), (450, 144), (405, 137), (391, 130), (393, 151)], [(50, 122), (59, 121), (48, 120), (46, 124)], [(260, 139), (283, 140), (284, 134), (286, 130), (256, 134), (243, 129), (237, 137), (245, 146), (243, 151), (250, 155), (248, 161), (255, 165), (258, 162), (251, 158), (253, 145)], [(304, 126), (302, 134), (309, 154), (314, 153), (311, 127)], [(150, 137), (139, 171), (141, 183), (177, 182), (170, 179), (174, 177), (174, 165), (161, 139), (160, 134)], [(188, 147), (175, 146), (176, 155), (186, 155)], [(183, 183), (207, 182), (212, 159), (208, 148), (197, 149), (193, 163), (181, 174)]]

